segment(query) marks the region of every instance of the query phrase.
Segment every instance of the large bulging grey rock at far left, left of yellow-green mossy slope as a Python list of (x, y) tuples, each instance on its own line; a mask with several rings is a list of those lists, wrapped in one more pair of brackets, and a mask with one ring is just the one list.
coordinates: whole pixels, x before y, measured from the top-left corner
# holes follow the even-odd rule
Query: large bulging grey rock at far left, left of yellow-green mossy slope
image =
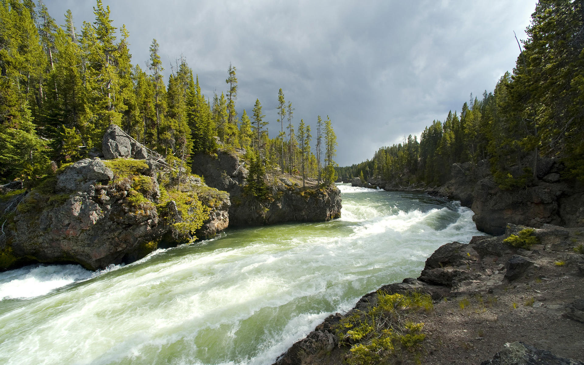
[(113, 172), (102, 161), (86, 159), (54, 179), (53, 192), (61, 194), (51, 192), (50, 183), (26, 194), (12, 219), (12, 255), (95, 270), (150, 252), (159, 234), (155, 204), (133, 203), (131, 184), (109, 184), (107, 176)]

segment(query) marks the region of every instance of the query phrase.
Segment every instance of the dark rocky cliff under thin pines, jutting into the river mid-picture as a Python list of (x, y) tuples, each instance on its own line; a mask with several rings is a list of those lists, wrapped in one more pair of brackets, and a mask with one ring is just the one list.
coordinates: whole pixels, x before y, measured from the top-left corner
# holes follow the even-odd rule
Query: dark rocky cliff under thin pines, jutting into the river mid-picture
[(283, 222), (328, 221), (340, 217), (340, 190), (318, 186), (308, 180), (305, 187), (297, 176), (278, 174), (271, 183), (270, 199), (258, 199), (244, 191), (248, 173), (244, 151), (218, 151), (193, 157), (193, 173), (204, 176), (208, 186), (230, 193), (231, 225), (263, 225)]

